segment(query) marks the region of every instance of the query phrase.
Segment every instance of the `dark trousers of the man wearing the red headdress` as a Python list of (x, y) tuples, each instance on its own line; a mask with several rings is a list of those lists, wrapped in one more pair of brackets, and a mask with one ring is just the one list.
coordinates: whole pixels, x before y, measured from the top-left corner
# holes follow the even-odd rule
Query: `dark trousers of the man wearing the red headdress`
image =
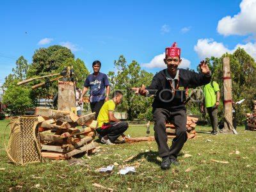
[[(169, 156), (172, 159), (176, 159), (184, 143), (188, 139), (187, 135), (187, 115), (186, 111), (180, 109), (179, 111), (168, 111), (163, 108), (156, 108), (153, 110), (154, 118), (154, 131), (155, 139), (158, 146), (159, 156)], [(176, 137), (172, 141), (172, 146), (169, 148), (167, 145), (167, 133), (166, 133), (166, 120), (173, 120), (173, 124), (176, 129)]]

